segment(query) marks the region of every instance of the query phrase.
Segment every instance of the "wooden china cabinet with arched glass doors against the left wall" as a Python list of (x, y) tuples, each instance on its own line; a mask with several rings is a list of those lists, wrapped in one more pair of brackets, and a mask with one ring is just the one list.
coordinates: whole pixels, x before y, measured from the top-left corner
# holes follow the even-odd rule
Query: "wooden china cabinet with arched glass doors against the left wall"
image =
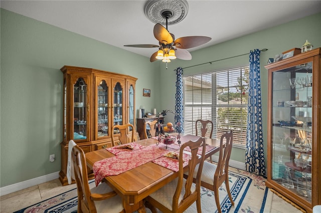
[[(137, 78), (76, 66), (63, 66), (61, 71), (64, 73), (64, 139), (59, 179), (66, 185), (69, 140), (74, 140), (86, 153), (112, 146), (113, 125), (131, 123), (136, 128)], [(132, 133), (138, 137), (136, 131), (128, 129), (128, 138)], [(92, 171), (88, 173), (93, 178)]]

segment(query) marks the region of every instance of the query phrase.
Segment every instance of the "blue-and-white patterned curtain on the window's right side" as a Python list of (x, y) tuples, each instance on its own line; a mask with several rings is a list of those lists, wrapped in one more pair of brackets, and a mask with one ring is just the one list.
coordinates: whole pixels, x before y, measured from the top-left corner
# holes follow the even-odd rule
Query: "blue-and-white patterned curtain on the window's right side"
[(255, 49), (250, 51), (245, 167), (265, 176), (261, 106), (260, 50)]

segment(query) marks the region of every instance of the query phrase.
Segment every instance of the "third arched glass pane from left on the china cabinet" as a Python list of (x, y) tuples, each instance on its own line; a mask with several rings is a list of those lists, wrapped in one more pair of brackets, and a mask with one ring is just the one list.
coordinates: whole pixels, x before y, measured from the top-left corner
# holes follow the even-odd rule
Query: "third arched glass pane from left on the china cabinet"
[(113, 98), (113, 125), (122, 125), (123, 120), (123, 88), (120, 82), (117, 82), (114, 87), (114, 98)]

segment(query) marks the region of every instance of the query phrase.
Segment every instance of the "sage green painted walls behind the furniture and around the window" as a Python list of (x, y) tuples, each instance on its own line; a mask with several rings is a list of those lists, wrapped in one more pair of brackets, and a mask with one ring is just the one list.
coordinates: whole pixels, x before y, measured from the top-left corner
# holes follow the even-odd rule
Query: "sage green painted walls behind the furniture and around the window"
[[(261, 53), (263, 130), (266, 143), (269, 57), (308, 39), (321, 46), (321, 13), (192, 52), (193, 60), (150, 63), (148, 57), (1, 9), (1, 187), (60, 170), (63, 65), (91, 67), (137, 77), (136, 108), (175, 109), (176, 67), (231, 57), (254, 48)], [(233, 27), (233, 26), (231, 26)], [(244, 65), (248, 56), (184, 69), (184, 75)], [(150, 88), (151, 97), (142, 89)], [(173, 119), (171, 115), (166, 118)], [(49, 154), (56, 154), (49, 162)], [(232, 159), (244, 161), (244, 149)]]

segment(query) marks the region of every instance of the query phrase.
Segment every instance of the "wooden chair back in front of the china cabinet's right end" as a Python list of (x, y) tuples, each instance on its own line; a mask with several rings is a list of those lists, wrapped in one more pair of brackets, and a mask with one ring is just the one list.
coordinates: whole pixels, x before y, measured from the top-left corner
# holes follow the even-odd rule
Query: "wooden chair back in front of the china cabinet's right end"
[[(131, 131), (132, 131), (130, 140), (128, 140), (128, 136), (127, 136), (128, 127), (131, 127)], [(114, 132), (116, 129), (118, 129), (118, 131)], [(134, 126), (131, 123), (126, 123), (123, 125), (120, 125), (120, 124), (113, 125), (111, 127), (112, 145), (115, 146), (117, 144), (119, 145), (119, 144), (123, 144), (123, 143), (133, 142), (134, 141), (134, 132), (135, 132)], [(119, 134), (119, 135), (115, 136), (115, 134)]]

